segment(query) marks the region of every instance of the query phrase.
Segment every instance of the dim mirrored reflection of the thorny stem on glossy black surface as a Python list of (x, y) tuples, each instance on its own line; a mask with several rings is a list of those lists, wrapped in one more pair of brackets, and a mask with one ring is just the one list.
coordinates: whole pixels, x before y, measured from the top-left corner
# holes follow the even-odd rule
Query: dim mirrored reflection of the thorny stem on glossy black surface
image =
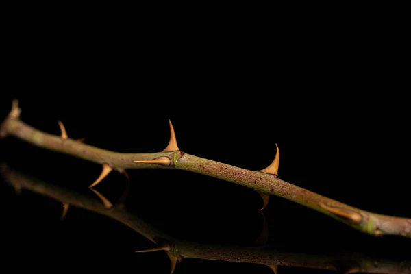
[[(182, 242), (151, 227), (134, 214), (127, 212), (123, 207), (113, 206), (107, 209), (97, 199), (90, 199), (89, 197), (79, 195), (78, 193), (71, 192), (53, 184), (47, 184), (38, 179), (27, 177), (26, 175), (8, 169), (4, 165), (2, 166), (2, 173), (5, 181), (14, 186), (14, 188), (31, 190), (40, 195), (56, 199), (63, 204), (84, 208), (120, 221), (154, 242), (159, 249), (170, 251), (170, 253), (174, 254), (179, 260), (183, 258), (199, 258), (265, 264), (268, 266), (279, 265), (345, 270), (347, 273), (410, 273), (411, 271), (411, 260), (399, 262), (386, 258), (371, 259), (361, 254), (353, 256), (351, 253), (314, 256), (258, 247), (223, 247)], [(164, 242), (169, 243), (171, 249), (166, 249)]]

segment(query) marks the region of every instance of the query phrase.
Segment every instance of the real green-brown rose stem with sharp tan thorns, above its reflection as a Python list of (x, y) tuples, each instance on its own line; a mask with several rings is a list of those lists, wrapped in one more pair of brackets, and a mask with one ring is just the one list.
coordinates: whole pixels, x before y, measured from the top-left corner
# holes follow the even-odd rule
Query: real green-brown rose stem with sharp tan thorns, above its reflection
[(266, 206), (269, 195), (277, 195), (327, 214), (342, 223), (373, 236), (397, 235), (411, 238), (411, 219), (360, 210), (279, 179), (277, 177), (279, 158), (277, 157), (268, 168), (261, 171), (249, 171), (184, 153), (177, 146), (171, 123), (170, 142), (163, 151), (156, 153), (117, 153), (85, 145), (69, 138), (62, 123), (59, 123), (62, 129), (61, 136), (41, 132), (20, 121), (20, 113), (21, 110), (15, 100), (12, 111), (0, 125), (0, 138), (8, 135), (16, 136), (38, 147), (102, 164), (101, 175), (90, 187), (99, 184), (113, 170), (123, 172), (125, 169), (179, 169), (216, 177), (258, 190), (264, 199), (263, 208)]

